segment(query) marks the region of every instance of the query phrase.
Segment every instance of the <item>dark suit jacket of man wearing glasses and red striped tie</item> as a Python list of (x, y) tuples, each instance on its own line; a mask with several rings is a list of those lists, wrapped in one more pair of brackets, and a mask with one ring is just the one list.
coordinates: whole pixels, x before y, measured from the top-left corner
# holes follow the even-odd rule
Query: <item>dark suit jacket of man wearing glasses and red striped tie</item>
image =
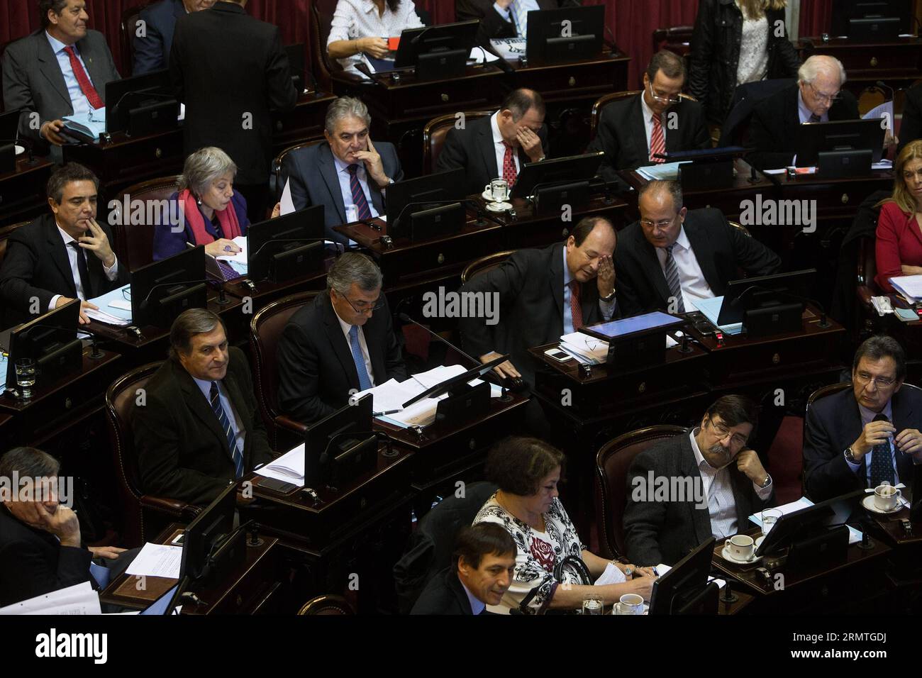
[[(633, 170), (650, 162), (650, 149), (646, 145), (644, 127), (644, 109), (641, 104), (642, 94), (630, 99), (614, 101), (602, 111), (598, 122), (596, 138), (589, 143), (586, 152), (605, 151), (605, 158), (599, 168), (599, 174), (609, 182), (621, 182), (618, 170)], [(675, 118), (670, 118), (676, 113)], [(675, 128), (670, 128), (670, 120), (675, 120)], [(666, 152), (679, 150), (709, 149), (711, 135), (704, 124), (704, 112), (697, 101), (682, 99), (666, 112), (667, 128)]]

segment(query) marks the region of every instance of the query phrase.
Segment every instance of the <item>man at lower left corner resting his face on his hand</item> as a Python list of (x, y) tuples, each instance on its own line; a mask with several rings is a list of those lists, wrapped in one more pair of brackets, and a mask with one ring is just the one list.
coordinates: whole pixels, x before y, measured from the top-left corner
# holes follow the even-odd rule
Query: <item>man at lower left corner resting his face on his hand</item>
[[(0, 490), (0, 607), (92, 583), (90, 577), (99, 577), (98, 570), (91, 571), (93, 558), (122, 560), (106, 563), (112, 565), (109, 577), (121, 574), (136, 554), (83, 546), (77, 513), (64, 506), (73, 497), (59, 490), (67, 489), (59, 470), (57, 459), (31, 447), (15, 447), (0, 458), (0, 478), (10, 483)], [(21, 484), (26, 479), (30, 484)]]

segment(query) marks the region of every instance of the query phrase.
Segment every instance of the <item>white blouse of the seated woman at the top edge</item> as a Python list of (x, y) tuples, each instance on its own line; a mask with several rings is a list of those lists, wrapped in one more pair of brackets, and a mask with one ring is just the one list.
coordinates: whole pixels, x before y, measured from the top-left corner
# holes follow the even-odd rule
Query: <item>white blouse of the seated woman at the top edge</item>
[[(378, 8), (372, 0), (339, 0), (333, 13), (330, 37), (326, 46), (337, 40), (358, 40), (359, 38), (398, 38), (404, 29), (417, 29), (422, 21), (416, 14), (416, 6), (410, 0), (400, 0), (396, 12), (384, 4), (384, 14), (378, 14)], [(339, 63), (347, 72), (363, 76), (355, 65), (361, 62), (361, 54), (353, 54)]]

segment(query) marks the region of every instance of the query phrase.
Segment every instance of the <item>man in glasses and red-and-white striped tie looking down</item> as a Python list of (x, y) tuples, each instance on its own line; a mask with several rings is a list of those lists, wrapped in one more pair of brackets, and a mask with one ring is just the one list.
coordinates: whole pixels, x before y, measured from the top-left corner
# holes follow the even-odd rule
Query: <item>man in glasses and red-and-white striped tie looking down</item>
[(663, 162), (654, 153), (711, 148), (701, 104), (681, 95), (685, 77), (681, 57), (662, 50), (646, 67), (644, 91), (605, 107), (586, 150), (605, 151), (599, 174), (606, 181), (626, 190), (619, 170)]

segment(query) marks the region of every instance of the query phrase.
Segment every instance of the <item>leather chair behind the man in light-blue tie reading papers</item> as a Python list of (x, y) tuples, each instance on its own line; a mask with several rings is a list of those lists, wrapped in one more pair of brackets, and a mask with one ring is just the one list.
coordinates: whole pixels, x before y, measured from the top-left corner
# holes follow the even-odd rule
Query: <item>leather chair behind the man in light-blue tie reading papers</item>
[(291, 315), (322, 292), (302, 291), (278, 299), (260, 309), (250, 321), (250, 349), (254, 357), (254, 385), (259, 413), (266, 422), (266, 434), (272, 449), (278, 446), (279, 428), (303, 434), (307, 424), (295, 422), (278, 410), (278, 339)]

